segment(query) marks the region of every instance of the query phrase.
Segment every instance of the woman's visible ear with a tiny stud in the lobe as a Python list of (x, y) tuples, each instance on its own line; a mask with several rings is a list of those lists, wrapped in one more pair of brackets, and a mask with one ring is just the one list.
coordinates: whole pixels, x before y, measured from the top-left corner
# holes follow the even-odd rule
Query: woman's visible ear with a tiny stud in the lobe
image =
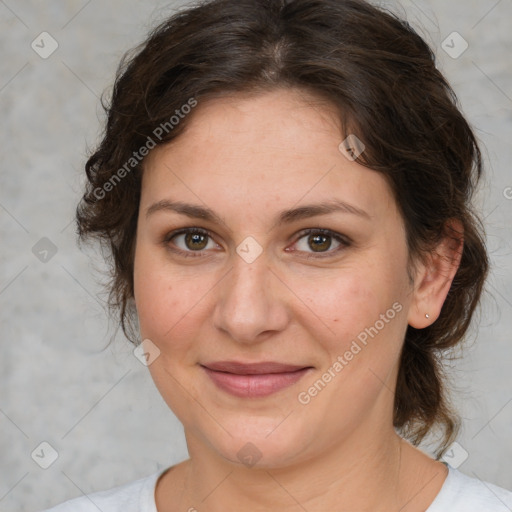
[(462, 223), (450, 219), (445, 224), (444, 232), (443, 239), (425, 262), (417, 265), (408, 314), (409, 325), (416, 329), (428, 327), (437, 320), (460, 265), (464, 248)]

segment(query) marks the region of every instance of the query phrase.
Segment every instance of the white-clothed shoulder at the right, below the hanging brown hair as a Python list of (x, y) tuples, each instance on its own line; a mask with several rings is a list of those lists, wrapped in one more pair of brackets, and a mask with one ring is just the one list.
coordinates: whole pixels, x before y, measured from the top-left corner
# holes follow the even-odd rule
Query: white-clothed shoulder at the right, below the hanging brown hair
[[(512, 492), (448, 466), (441, 491), (426, 512), (510, 512)], [(475, 475), (476, 476), (476, 475)]]

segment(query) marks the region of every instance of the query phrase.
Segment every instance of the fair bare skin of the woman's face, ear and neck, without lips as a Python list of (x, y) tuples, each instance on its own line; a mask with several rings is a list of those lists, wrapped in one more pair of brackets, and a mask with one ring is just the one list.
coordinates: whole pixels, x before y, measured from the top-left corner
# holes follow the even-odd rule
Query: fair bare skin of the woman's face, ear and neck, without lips
[[(158, 510), (424, 511), (447, 469), (395, 433), (395, 381), (407, 325), (436, 320), (460, 246), (441, 242), (411, 283), (389, 186), (340, 152), (333, 108), (304, 91), (200, 102), (187, 121), (145, 162), (135, 251), (141, 336), (160, 351), (149, 369), (190, 455), (158, 481)], [(274, 225), (282, 210), (332, 199), (368, 218), (338, 211)], [(208, 207), (220, 221), (148, 214), (164, 200)], [(212, 234), (199, 250), (170, 238), (192, 227)], [(328, 236), (319, 250), (301, 233), (318, 228), (351, 242)], [(249, 236), (262, 250), (250, 263), (236, 251)], [(396, 303), (401, 311), (300, 403)], [(239, 398), (200, 367), (220, 360), (313, 369), (268, 397)], [(249, 442), (261, 457), (253, 466), (237, 456)]]

